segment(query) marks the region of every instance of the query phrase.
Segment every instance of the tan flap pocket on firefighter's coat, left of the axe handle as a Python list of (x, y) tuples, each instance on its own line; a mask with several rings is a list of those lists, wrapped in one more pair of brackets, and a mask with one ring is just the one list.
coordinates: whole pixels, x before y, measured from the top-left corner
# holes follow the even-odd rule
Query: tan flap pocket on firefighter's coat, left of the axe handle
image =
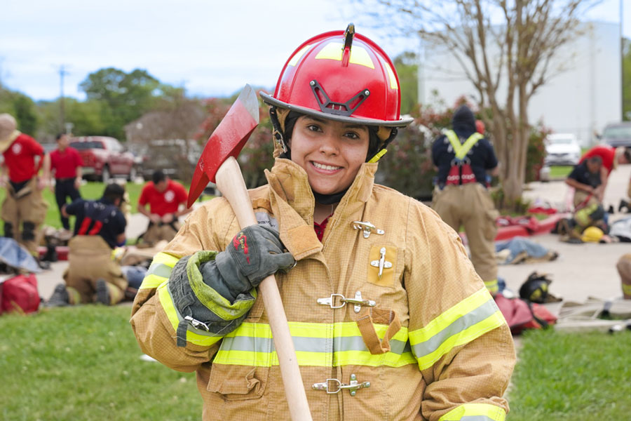
[(208, 392), (222, 395), (227, 401), (245, 401), (263, 396), (269, 367), (212, 364)]

